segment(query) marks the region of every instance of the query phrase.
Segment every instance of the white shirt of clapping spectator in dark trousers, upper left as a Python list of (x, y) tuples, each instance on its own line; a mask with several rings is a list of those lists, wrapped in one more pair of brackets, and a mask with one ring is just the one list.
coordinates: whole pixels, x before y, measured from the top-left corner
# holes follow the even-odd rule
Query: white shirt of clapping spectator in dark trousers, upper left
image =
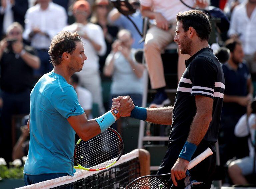
[(53, 36), (66, 25), (67, 13), (63, 7), (50, 2), (48, 8), (42, 10), (40, 4), (37, 4), (27, 10), (23, 38), (29, 40), (29, 33), (33, 28), (38, 27), (42, 32), (46, 32), (49, 38), (44, 35), (35, 34), (31, 39), (31, 46), (36, 49), (48, 49)]

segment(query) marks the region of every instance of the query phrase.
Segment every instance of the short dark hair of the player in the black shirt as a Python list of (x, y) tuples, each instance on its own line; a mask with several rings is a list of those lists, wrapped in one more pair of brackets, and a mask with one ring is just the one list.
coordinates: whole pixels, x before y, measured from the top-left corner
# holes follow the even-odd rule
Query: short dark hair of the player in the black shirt
[(212, 27), (208, 15), (203, 11), (179, 12), (176, 20), (177, 22), (182, 22), (184, 31), (188, 31), (189, 27), (193, 27), (201, 40), (209, 40)]

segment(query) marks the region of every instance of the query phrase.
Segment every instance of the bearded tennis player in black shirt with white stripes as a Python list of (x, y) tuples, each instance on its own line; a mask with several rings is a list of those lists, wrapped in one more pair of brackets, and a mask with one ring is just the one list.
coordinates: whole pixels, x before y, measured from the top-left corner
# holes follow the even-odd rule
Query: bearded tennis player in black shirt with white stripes
[[(158, 174), (170, 173), (174, 188), (183, 188), (188, 163), (208, 147), (215, 152), (225, 88), (221, 64), (208, 46), (211, 24), (198, 10), (177, 14), (176, 36), (181, 54), (189, 54), (180, 79), (174, 107), (141, 108), (122, 114), (122, 97), (113, 99), (121, 116), (170, 125), (168, 150)], [(209, 188), (215, 170), (215, 153), (190, 170), (192, 180), (204, 182), (193, 188)]]

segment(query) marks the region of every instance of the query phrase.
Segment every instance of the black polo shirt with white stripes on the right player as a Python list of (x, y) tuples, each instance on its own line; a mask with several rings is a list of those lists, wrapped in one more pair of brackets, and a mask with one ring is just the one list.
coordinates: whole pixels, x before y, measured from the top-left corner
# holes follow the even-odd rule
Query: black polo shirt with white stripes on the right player
[(195, 96), (202, 95), (213, 98), (212, 121), (202, 141), (214, 144), (218, 139), (225, 88), (221, 64), (212, 49), (203, 48), (186, 60), (186, 67), (175, 97), (170, 143), (185, 143), (196, 114)]

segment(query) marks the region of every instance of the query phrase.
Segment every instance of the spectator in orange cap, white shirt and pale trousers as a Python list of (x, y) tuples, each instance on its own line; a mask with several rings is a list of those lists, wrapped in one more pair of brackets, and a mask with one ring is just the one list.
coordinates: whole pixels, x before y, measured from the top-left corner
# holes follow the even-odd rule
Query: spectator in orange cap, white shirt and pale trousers
[(99, 73), (99, 57), (106, 53), (106, 43), (103, 30), (99, 25), (87, 21), (91, 13), (90, 4), (85, 0), (78, 0), (73, 5), (76, 22), (64, 28), (69, 32), (77, 31), (84, 43), (87, 61), (82, 71), (78, 72), (81, 85), (88, 89), (93, 96), (93, 103), (98, 104), (99, 113), (104, 113), (101, 78)]

